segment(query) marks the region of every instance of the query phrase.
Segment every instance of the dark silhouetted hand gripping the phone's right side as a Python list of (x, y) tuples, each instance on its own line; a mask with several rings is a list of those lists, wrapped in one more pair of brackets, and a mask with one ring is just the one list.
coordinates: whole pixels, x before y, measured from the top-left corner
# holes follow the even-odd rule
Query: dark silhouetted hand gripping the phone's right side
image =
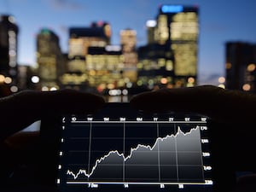
[(256, 95), (202, 85), (144, 92), (133, 96), (131, 105), (146, 112), (207, 115), (214, 122), (210, 132), (216, 158), (212, 164), (219, 191), (232, 187), (236, 192), (255, 191), (256, 174), (237, 177), (237, 180), (234, 177), (236, 172), (256, 170)]

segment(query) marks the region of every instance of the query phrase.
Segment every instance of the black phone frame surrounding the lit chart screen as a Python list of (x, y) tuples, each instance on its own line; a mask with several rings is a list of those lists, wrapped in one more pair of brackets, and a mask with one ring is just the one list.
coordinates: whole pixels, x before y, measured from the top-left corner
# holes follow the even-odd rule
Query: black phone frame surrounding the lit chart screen
[[(218, 138), (216, 132), (214, 131), (214, 126), (216, 125), (212, 119), (209, 117), (202, 115), (200, 113), (175, 113), (172, 111), (168, 111), (165, 113), (148, 113), (144, 112), (143, 110), (137, 110), (136, 108), (132, 108), (129, 102), (108, 102), (106, 105), (100, 109), (96, 113), (111, 113), (113, 114), (113, 118), (119, 118), (120, 116), (124, 116), (127, 114), (127, 111), (125, 108), (129, 110), (129, 118), (137, 117), (137, 115), (141, 115), (144, 117), (152, 117), (157, 115), (166, 115), (166, 114), (173, 114), (176, 117), (183, 118), (184, 116), (190, 117), (206, 117), (207, 118), (207, 126), (209, 127), (209, 140), (210, 145), (209, 149), (211, 150), (211, 160), (212, 160), (212, 191), (219, 191), (220, 189), (227, 189), (231, 188), (234, 184), (234, 175), (233, 172), (223, 172), (224, 164), (222, 163), (221, 154), (219, 154), (219, 148), (218, 141), (216, 141)], [(118, 113), (117, 113), (118, 112)], [(59, 191), (57, 184), (56, 184), (56, 178), (58, 176), (58, 169), (57, 166), (59, 165), (59, 148), (60, 148), (60, 138), (61, 138), (61, 125), (62, 125), (62, 119), (63, 116), (72, 116), (75, 114), (63, 114), (59, 116), (55, 116), (52, 118), (42, 119), (41, 120), (41, 140), (43, 143), (42, 147), (42, 155), (44, 156), (44, 163), (42, 166), (42, 175), (49, 175), (49, 177), (42, 179), (44, 183), (49, 184), (50, 186), (54, 186), (56, 191)], [(79, 114), (80, 115), (80, 114)], [(91, 116), (94, 114), (85, 114), (86, 116)], [(126, 115), (127, 117), (127, 115)], [(51, 158), (48, 160), (45, 160), (45, 154), (48, 154)], [(46, 166), (47, 165), (47, 166)], [(229, 179), (227, 179), (229, 178)], [(137, 191), (136, 189), (124, 189), (124, 191)], [(98, 191), (106, 191), (106, 190), (98, 190)], [(107, 190), (108, 191), (108, 190)], [(111, 189), (111, 191), (114, 191)], [(117, 189), (116, 191), (120, 191)], [(140, 189), (140, 191), (142, 191)], [(145, 191), (150, 191), (150, 189), (145, 189)], [(152, 191), (157, 191), (156, 189), (153, 189)], [(163, 189), (160, 189), (160, 191), (164, 191)], [(166, 190), (167, 191), (167, 190)], [(185, 190), (183, 190), (185, 191)]]

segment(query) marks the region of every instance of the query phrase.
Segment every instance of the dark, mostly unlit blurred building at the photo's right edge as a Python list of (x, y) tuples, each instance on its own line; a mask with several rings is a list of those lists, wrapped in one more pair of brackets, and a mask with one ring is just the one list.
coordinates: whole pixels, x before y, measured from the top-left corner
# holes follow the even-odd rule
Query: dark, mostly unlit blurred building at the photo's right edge
[(255, 92), (256, 44), (228, 42), (225, 52), (226, 88)]

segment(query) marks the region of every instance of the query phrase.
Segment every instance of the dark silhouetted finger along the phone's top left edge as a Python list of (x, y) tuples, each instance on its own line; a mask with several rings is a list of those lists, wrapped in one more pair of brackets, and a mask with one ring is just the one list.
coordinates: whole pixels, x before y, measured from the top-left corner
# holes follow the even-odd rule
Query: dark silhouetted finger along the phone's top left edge
[(65, 113), (94, 113), (103, 105), (102, 96), (78, 90), (20, 91), (0, 99), (0, 139), (42, 118)]

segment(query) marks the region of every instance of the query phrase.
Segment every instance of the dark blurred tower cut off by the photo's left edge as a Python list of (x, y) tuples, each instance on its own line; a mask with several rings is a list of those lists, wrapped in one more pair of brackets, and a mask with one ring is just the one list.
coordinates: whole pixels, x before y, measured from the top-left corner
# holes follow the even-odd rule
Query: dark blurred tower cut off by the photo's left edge
[(9, 86), (11, 92), (17, 87), (17, 38), (19, 28), (12, 15), (2, 15), (0, 21), (0, 84)]

